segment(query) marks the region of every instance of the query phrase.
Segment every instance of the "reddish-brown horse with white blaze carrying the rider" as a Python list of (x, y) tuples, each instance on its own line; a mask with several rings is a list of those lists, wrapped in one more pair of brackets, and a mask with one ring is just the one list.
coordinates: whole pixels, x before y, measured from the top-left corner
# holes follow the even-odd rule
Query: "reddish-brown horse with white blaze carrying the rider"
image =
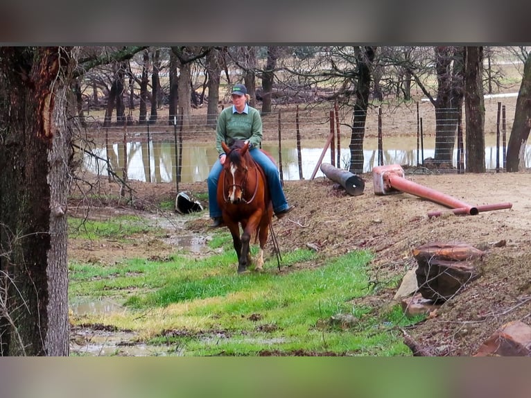
[[(263, 270), (263, 248), (268, 241), (273, 205), (262, 168), (249, 153), (249, 141), (234, 141), (231, 146), (221, 143), (227, 157), (218, 179), (217, 200), (223, 222), (232, 234), (238, 256), (238, 274), (251, 263), (250, 241), (259, 240), (255, 271)], [(261, 150), (261, 149), (256, 149)], [(268, 155), (269, 156), (269, 155)], [(240, 236), (240, 225), (243, 233)]]

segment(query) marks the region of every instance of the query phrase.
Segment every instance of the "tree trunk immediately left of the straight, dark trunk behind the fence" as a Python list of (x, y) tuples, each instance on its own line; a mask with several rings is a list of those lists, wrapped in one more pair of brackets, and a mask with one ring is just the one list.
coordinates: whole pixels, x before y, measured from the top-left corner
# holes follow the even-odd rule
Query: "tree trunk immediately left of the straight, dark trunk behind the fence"
[(435, 69), (437, 71), (435, 160), (451, 164), (458, 114), (463, 101), (463, 52), (451, 47), (437, 47)]

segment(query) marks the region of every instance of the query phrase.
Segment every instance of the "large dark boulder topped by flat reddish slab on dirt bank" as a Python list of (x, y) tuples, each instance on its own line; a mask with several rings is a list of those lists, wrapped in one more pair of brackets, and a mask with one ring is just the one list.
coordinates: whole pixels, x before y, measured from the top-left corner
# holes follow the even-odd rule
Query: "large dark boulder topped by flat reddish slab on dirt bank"
[(462, 286), (479, 277), (477, 259), (481, 250), (467, 243), (427, 243), (413, 250), (418, 268), (417, 284), (422, 297), (445, 302)]

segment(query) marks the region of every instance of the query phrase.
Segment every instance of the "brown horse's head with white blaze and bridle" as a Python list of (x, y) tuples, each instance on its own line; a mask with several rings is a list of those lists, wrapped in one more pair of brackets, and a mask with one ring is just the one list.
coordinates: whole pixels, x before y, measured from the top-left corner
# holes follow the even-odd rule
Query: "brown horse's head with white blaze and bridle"
[(248, 153), (249, 141), (236, 140), (229, 147), (225, 142), (221, 143), (227, 158), (223, 168), (225, 169), (225, 187), (228, 191), (223, 190), (225, 201), (231, 203), (245, 202), (243, 195), (245, 193), (245, 184), (247, 182), (248, 170)]

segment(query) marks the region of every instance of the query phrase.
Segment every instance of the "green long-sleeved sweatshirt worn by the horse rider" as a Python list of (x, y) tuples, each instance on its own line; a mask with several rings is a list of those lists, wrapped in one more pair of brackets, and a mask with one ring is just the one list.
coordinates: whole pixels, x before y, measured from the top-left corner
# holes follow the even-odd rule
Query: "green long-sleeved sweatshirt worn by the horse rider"
[(248, 139), (252, 146), (258, 147), (262, 141), (262, 119), (260, 113), (254, 107), (249, 107), (249, 112), (232, 113), (232, 106), (226, 107), (218, 116), (218, 128), (216, 131), (216, 150), (220, 155), (224, 154), (221, 142), (230, 139)]

